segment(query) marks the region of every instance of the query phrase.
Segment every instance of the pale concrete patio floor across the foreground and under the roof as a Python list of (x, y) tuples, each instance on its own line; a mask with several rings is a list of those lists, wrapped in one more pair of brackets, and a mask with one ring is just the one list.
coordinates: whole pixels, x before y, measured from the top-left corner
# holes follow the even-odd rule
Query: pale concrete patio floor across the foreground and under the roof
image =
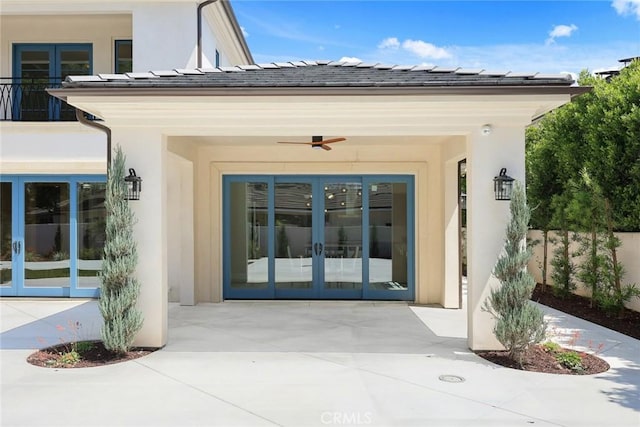
[[(404, 303), (170, 305), (169, 342), (84, 369), (26, 363), (99, 336), (95, 301), (0, 300), (2, 426), (638, 426), (640, 341), (545, 308), (553, 339), (604, 345), (593, 376), (493, 365), (466, 345), (466, 310)], [(459, 382), (445, 380), (460, 379)]]

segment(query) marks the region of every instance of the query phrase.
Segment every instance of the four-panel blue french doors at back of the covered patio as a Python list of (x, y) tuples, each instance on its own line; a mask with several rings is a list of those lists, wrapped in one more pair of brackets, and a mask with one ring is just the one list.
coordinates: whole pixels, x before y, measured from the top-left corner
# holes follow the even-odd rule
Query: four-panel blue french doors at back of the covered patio
[(224, 297), (413, 300), (410, 176), (227, 176)]

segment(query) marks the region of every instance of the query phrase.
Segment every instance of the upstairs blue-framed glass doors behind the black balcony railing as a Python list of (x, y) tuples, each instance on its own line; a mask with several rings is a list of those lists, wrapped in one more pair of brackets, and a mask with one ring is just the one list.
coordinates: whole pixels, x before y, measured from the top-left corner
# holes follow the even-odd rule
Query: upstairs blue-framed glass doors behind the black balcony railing
[(75, 120), (74, 109), (49, 96), (45, 89), (59, 87), (69, 75), (91, 74), (92, 64), (89, 43), (14, 44), (12, 119)]

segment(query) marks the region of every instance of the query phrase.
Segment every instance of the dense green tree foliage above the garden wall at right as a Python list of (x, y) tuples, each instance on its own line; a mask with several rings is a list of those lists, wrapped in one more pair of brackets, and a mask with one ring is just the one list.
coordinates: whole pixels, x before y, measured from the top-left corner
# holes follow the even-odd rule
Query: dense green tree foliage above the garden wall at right
[(572, 193), (586, 173), (611, 204), (616, 231), (640, 231), (640, 61), (610, 80), (580, 75), (593, 90), (527, 132), (532, 225), (552, 223), (553, 196)]

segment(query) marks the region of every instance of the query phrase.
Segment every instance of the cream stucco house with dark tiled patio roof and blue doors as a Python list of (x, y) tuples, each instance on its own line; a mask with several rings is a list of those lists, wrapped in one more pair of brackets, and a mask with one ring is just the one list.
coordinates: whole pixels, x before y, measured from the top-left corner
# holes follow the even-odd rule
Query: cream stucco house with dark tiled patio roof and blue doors
[[(23, 45), (46, 43), (55, 33), (20, 33), (25, 22), (42, 18), (27, 13), (35, 9), (30, 3), (2, 2), (2, 71), (10, 77), (21, 70), (21, 52), (31, 52)], [(96, 205), (106, 149), (118, 144), (127, 167), (143, 178), (140, 200), (131, 202), (145, 316), (138, 345), (166, 343), (169, 301), (365, 299), (458, 308), (458, 168), (466, 159), (469, 346), (496, 348), (491, 318), (481, 309), (495, 284), (491, 271), (508, 217), (508, 203), (495, 200), (494, 177), (507, 168), (524, 179), (525, 127), (584, 88), (567, 76), (537, 73), (253, 64), (224, 0), (203, 8), (187, 1), (52, 3), (57, 8), (45, 19), (63, 21), (61, 31), (80, 31), (85, 20), (96, 21), (91, 29), (104, 24), (91, 49), (73, 51), (94, 58), (70, 67), (86, 72), (68, 73), (62, 87), (48, 90), (60, 105), (55, 113), (76, 108), (81, 118), (97, 120), (27, 123), (11, 115), (0, 123), (2, 236), (5, 224), (13, 233), (3, 240), (12, 254), (10, 264), (2, 261), (12, 268), (5, 294), (60, 292), (55, 281), (25, 271), (64, 270), (55, 264), (62, 259), (70, 271), (64, 294), (95, 295), (95, 283), (81, 283), (99, 268), (88, 256), (100, 247)], [(202, 49), (192, 22), (198, 9), (209, 11)], [(92, 40), (87, 34), (64, 40), (75, 49)], [(126, 37), (131, 59), (116, 43)], [(161, 54), (150, 53), (159, 51), (155, 46), (163, 46)], [(51, 55), (65, 48), (56, 45)], [(120, 72), (125, 63), (131, 72)], [(290, 144), (320, 136), (344, 140), (327, 145), (331, 150)], [(48, 185), (49, 197), (31, 207), (34, 177)], [(66, 218), (75, 224), (68, 236), (58, 232)], [(45, 241), (35, 251), (40, 259), (20, 251), (29, 239)], [(43, 292), (45, 285), (29, 280), (56, 290)]]

